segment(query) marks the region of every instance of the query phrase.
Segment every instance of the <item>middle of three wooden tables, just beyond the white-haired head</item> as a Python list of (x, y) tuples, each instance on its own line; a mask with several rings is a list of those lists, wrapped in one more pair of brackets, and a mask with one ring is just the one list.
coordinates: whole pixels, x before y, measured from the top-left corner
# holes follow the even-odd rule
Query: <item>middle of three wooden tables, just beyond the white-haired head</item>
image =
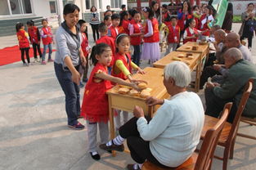
[(176, 60), (173, 60), (173, 57), (177, 57), (178, 55), (182, 54), (182, 55), (185, 55), (185, 57), (181, 58), (181, 61), (185, 61), (185, 60), (188, 61), (190, 63), (190, 65), (188, 66), (192, 71), (198, 65), (198, 60), (200, 59), (200, 53), (192, 52), (192, 56), (194, 56), (192, 60), (187, 59), (186, 53), (187, 52), (172, 51), (167, 56), (164, 56), (160, 60), (157, 60), (155, 63), (153, 63), (153, 65), (155, 68), (164, 69), (166, 65), (168, 65), (173, 61), (176, 61)]

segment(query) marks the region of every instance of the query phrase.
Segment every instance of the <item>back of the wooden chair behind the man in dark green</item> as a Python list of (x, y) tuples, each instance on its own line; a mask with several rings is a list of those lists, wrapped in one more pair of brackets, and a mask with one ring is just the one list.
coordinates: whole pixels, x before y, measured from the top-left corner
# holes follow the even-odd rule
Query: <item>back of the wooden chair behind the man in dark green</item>
[(249, 81), (245, 85), (245, 91), (243, 93), (243, 96), (241, 97), (239, 106), (236, 110), (236, 116), (231, 126), (231, 131), (229, 132), (229, 135), (227, 137), (227, 142), (231, 142), (236, 139), (236, 133), (239, 128), (239, 123), (241, 119), (241, 115), (245, 109), (246, 102), (249, 99), (250, 92), (252, 91), (254, 86), (254, 78), (249, 78)]

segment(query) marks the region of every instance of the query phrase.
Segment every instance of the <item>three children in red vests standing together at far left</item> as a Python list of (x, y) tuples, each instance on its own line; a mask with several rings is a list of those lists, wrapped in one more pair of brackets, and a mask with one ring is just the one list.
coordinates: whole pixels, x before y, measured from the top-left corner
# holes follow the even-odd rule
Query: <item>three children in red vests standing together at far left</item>
[[(23, 23), (18, 22), (16, 24), (16, 35), (19, 41), (19, 47), (21, 51), (21, 60), (23, 65), (29, 66), (29, 48), (30, 44), (34, 50), (34, 62), (41, 62), (42, 65), (46, 65), (45, 56), (47, 53), (47, 49), (49, 49), (48, 62), (52, 62), (52, 29), (48, 26), (48, 22), (46, 19), (42, 20), (42, 29), (38, 29), (34, 25), (33, 20), (29, 20), (27, 22), (28, 32), (25, 31), (25, 25)], [(41, 38), (43, 42), (43, 54), (40, 48)], [(38, 60), (38, 54), (41, 60)], [(25, 62), (25, 56), (27, 58), (27, 62)]]

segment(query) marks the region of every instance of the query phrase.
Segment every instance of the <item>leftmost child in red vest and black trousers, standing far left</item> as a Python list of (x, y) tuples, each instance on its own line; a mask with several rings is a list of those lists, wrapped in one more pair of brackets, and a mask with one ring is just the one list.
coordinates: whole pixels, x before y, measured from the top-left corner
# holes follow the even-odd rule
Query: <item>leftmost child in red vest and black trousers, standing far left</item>
[[(29, 34), (25, 32), (25, 27), (23, 23), (19, 22), (16, 24), (16, 33), (21, 51), (21, 60), (23, 62), (23, 65), (29, 66)], [(25, 62), (24, 53), (26, 53), (28, 63)]]

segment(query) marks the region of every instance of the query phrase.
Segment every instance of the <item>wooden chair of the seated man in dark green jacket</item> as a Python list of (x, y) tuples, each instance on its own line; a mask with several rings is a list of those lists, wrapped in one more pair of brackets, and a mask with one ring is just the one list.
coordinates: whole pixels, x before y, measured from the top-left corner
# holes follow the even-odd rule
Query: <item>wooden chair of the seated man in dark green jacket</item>
[[(249, 94), (252, 90), (253, 81), (254, 81), (253, 79), (249, 79), (249, 82), (245, 86), (245, 92), (243, 93), (243, 96), (240, 100), (240, 104), (236, 111), (236, 117), (234, 119), (234, 122), (233, 123), (226, 122), (222, 130), (221, 136), (219, 137), (218, 145), (221, 145), (225, 149), (224, 149), (223, 157), (214, 156), (214, 158), (221, 159), (223, 161), (223, 164), (222, 164), (223, 170), (227, 169), (228, 158), (230, 159), (233, 158), (234, 145), (236, 141), (237, 130), (239, 128), (241, 114), (243, 113), (246, 102), (249, 98)], [(205, 115), (204, 128), (201, 133), (201, 139), (204, 139), (205, 132), (207, 132), (209, 128), (212, 128), (216, 123), (218, 123), (218, 120), (219, 119), (217, 118), (213, 118), (211, 116)]]

